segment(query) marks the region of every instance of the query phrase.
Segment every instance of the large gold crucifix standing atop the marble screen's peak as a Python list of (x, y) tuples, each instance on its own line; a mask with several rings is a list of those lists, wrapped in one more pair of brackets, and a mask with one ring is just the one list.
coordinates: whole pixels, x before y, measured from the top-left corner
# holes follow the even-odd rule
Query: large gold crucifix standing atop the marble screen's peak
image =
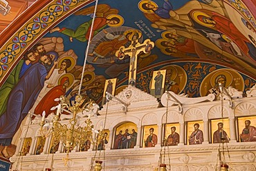
[(140, 52), (149, 53), (154, 47), (154, 42), (146, 39), (143, 43), (139, 43), (138, 39), (133, 40), (128, 48), (122, 46), (116, 52), (116, 57), (123, 59), (125, 55), (129, 55), (129, 81), (131, 86), (136, 86), (137, 59)]

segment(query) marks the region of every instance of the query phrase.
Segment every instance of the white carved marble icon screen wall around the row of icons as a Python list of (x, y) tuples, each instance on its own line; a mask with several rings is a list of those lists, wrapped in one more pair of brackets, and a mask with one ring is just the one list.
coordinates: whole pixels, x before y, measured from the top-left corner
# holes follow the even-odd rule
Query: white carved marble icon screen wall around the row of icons
[[(106, 150), (100, 152), (100, 160), (102, 170), (154, 170), (158, 166), (160, 154), (163, 154), (164, 148), (161, 148), (162, 125), (167, 123), (180, 123), (180, 143), (176, 146), (165, 147), (165, 164), (171, 170), (215, 170), (217, 166), (219, 143), (210, 142), (210, 128), (208, 122), (211, 119), (221, 119), (221, 101), (200, 102), (194, 98), (187, 98), (190, 101), (186, 105), (181, 105), (182, 112), (178, 105), (173, 104), (168, 108), (157, 108), (158, 103), (154, 97), (140, 92), (138, 89), (128, 87), (127, 90), (133, 92), (132, 96), (127, 99), (125, 91), (120, 92), (116, 97), (122, 99), (126, 103), (127, 111), (123, 110), (121, 103), (110, 101), (109, 105), (104, 105), (99, 111), (99, 116), (91, 117), (95, 128), (100, 130), (100, 126), (104, 123), (105, 114), (107, 112), (107, 121), (104, 126), (105, 130), (110, 130), (109, 143)], [(142, 98), (143, 97), (143, 98)], [(178, 97), (179, 98), (179, 97)], [(181, 101), (183, 99), (181, 98)], [(193, 103), (193, 101), (196, 101)], [(229, 119), (230, 123), (230, 143), (225, 144), (225, 161), (232, 170), (256, 170), (256, 143), (255, 142), (238, 142), (237, 125), (235, 124), (237, 117), (256, 116), (256, 97), (248, 94), (248, 97), (232, 99), (232, 108), (230, 101), (223, 101), (223, 117)], [(82, 117), (82, 116), (81, 116)], [(81, 123), (85, 120), (81, 118)], [(188, 121), (203, 121), (204, 142), (199, 145), (185, 144), (185, 124)], [(63, 121), (67, 123), (67, 121)], [(117, 125), (124, 122), (133, 122), (138, 127), (137, 145), (134, 149), (112, 150), (113, 146), (113, 130)], [(20, 168), (21, 170), (43, 170), (44, 168), (53, 168), (54, 170), (91, 170), (95, 160), (99, 159), (99, 152), (95, 155), (95, 151), (76, 152), (73, 150), (69, 153), (67, 165), (64, 165), (63, 148), (59, 148), (56, 154), (48, 154), (50, 148), (51, 137), (46, 139), (44, 152), (39, 155), (35, 154), (35, 145), (37, 137), (39, 137), (39, 125), (34, 122), (32, 125), (24, 125), (23, 134), (17, 145), (16, 155), (11, 158), (13, 162), (12, 170)], [(144, 125), (158, 125), (158, 145), (154, 148), (141, 148), (142, 144), (142, 128)], [(32, 137), (33, 144), (30, 148), (30, 154), (20, 157), (18, 150), (21, 150), (24, 137)], [(228, 149), (227, 149), (228, 148)], [(228, 152), (229, 151), (229, 152)], [(94, 158), (96, 156), (96, 159)], [(162, 156), (163, 157), (163, 156)]]

